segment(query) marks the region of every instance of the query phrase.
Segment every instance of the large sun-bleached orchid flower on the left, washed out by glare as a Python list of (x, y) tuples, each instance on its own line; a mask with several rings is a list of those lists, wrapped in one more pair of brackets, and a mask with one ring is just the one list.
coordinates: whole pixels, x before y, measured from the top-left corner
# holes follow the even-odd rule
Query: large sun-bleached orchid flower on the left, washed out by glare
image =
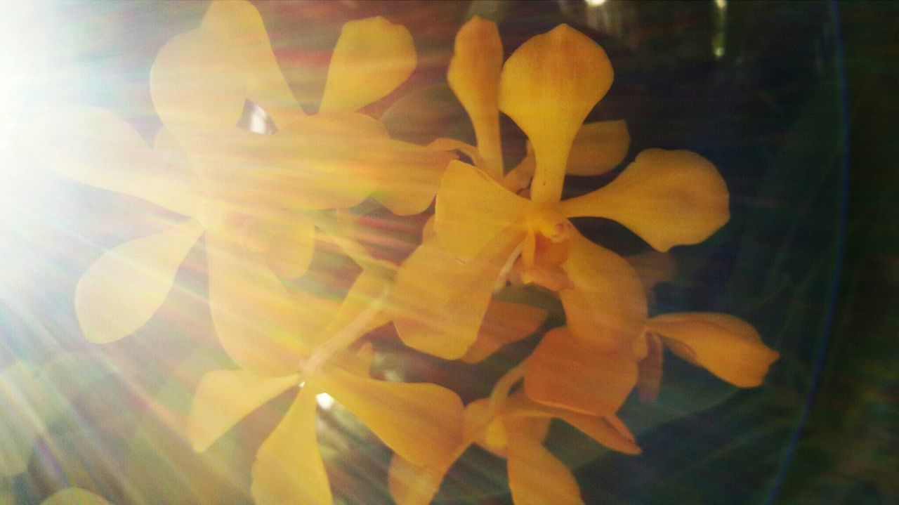
[[(33, 125), (32, 151), (58, 173), (186, 217), (112, 249), (85, 273), (76, 312), (86, 337), (109, 342), (138, 330), (205, 235), (222, 345), (241, 367), (292, 373), (305, 350), (280, 279), (307, 270), (316, 239), (315, 226), (295, 211), (373, 196), (395, 212), (420, 212), (451, 157), (393, 141), (376, 120), (352, 112), (401, 84), (415, 59), (404, 27), (379, 17), (348, 22), (321, 113), (307, 117), (254, 6), (213, 2), (200, 28), (170, 40), (154, 62), (150, 89), (165, 126), (153, 148), (100, 109), (71, 108)], [(274, 134), (237, 126), (247, 102), (271, 117)]]

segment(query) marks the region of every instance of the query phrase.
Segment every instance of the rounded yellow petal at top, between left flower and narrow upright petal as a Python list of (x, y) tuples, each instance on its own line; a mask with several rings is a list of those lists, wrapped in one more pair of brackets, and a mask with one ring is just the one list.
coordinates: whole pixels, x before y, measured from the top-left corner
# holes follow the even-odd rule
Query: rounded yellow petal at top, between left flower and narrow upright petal
[(318, 111), (358, 111), (409, 78), (417, 57), (405, 26), (370, 17), (347, 22), (334, 46)]

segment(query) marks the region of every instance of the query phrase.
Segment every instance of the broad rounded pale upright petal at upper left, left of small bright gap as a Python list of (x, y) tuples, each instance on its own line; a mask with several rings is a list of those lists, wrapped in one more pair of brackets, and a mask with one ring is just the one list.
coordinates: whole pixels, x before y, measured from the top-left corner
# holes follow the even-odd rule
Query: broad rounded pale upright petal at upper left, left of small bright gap
[(176, 137), (236, 127), (246, 101), (244, 68), (218, 33), (188, 31), (156, 55), (150, 93), (156, 113)]

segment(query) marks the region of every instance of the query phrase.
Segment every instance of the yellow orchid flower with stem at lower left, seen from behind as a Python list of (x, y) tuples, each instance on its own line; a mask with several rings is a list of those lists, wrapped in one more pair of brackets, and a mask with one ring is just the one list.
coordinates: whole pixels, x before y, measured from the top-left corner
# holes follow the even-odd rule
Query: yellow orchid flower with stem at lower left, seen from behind
[(298, 373), (271, 377), (222, 369), (200, 381), (185, 430), (197, 451), (206, 450), (263, 403), (300, 386), (289, 411), (257, 453), (251, 488), (256, 503), (333, 502), (316, 440), (318, 394), (331, 395), (414, 465), (449, 465), (462, 439), (458, 395), (439, 385), (370, 378), (373, 350), (363, 347), (360, 356), (346, 353), (352, 341), (384, 322), (378, 316), (385, 288), (378, 276), (363, 272), (341, 306), (318, 307), (331, 318), (318, 328), (315, 323), (307, 327), (320, 335), (319, 345)]

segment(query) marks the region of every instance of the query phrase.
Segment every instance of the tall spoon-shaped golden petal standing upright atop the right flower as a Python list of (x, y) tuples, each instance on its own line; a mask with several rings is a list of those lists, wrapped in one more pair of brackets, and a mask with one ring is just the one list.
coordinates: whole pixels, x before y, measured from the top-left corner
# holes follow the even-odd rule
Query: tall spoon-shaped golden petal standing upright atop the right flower
[(605, 51), (565, 24), (532, 37), (506, 60), (500, 110), (533, 143), (537, 168), (530, 193), (534, 201), (561, 198), (574, 137), (611, 83), (612, 67)]

